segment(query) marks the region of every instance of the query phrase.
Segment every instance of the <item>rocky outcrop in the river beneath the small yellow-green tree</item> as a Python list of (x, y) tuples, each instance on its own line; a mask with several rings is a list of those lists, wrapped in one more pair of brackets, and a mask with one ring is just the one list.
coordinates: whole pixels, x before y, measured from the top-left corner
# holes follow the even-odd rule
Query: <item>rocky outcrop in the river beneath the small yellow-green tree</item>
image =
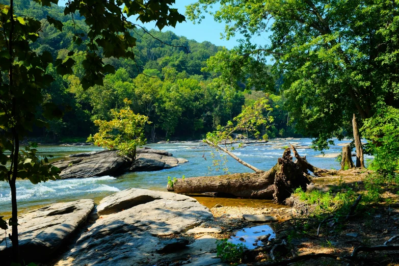
[(62, 179), (119, 175), (124, 172), (157, 171), (187, 163), (187, 159), (172, 157), (165, 150), (137, 149), (136, 159), (120, 156), (116, 151), (101, 150), (69, 155), (68, 159), (52, 163), (60, 168)]

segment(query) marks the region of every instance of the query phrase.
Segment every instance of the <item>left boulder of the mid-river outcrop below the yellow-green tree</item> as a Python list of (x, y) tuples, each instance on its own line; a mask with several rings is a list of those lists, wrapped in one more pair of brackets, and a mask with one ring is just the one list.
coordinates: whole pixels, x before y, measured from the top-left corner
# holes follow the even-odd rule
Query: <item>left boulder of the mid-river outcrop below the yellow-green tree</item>
[(82, 162), (72, 164), (60, 174), (62, 179), (85, 178), (102, 175), (115, 175), (123, 171), (129, 160), (119, 156), (116, 151), (101, 152), (85, 158)]

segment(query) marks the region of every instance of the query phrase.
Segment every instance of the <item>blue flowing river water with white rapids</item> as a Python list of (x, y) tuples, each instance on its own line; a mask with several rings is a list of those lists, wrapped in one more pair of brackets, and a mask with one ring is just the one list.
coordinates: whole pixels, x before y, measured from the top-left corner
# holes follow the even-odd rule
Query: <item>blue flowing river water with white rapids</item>
[[(337, 153), (341, 151), (339, 143), (348, 141), (335, 141), (336, 146), (331, 146), (326, 154)], [(281, 157), (284, 147), (289, 143), (300, 146), (309, 146), (311, 139), (274, 139), (267, 143), (248, 144), (244, 148), (237, 148), (234, 153), (245, 162), (262, 170), (269, 170), (277, 163), (277, 158)], [(204, 175), (220, 175), (223, 171), (215, 171), (212, 167), (211, 149), (203, 146), (202, 142), (178, 142), (178, 143), (160, 143), (148, 144), (148, 147), (154, 149), (167, 150), (173, 153), (175, 157), (186, 158), (189, 163), (179, 165), (172, 169), (164, 169), (154, 172), (136, 172), (126, 173), (121, 176), (101, 176), (84, 179), (66, 179), (57, 181), (48, 181), (39, 184), (32, 184), (29, 180), (17, 180), (17, 200), (20, 212), (28, 209), (37, 208), (55, 202), (73, 201), (77, 199), (94, 199), (98, 201), (115, 192), (127, 188), (142, 188), (158, 191), (166, 191), (167, 178), (181, 178), (183, 175), (188, 177)], [(55, 159), (60, 159), (72, 153), (89, 152), (100, 150), (97, 146), (46, 146), (38, 147), (41, 154), (52, 154)], [(315, 157), (320, 152), (309, 148), (298, 148), (301, 156), (306, 155), (309, 163), (317, 167), (326, 169), (339, 169), (340, 165), (333, 157)], [(215, 152), (215, 158), (218, 159), (219, 153)], [(206, 159), (205, 159), (206, 158)], [(366, 157), (367, 158), (367, 157)], [(249, 168), (237, 163), (234, 159), (228, 157), (228, 171), (230, 173), (251, 172)], [(207, 207), (212, 207), (216, 203), (222, 203), (225, 206), (270, 206), (270, 200), (251, 200), (251, 199), (223, 199), (211, 197), (196, 197), (199, 202)], [(8, 216), (11, 211), (11, 193), (7, 182), (0, 182), (0, 216)]]

